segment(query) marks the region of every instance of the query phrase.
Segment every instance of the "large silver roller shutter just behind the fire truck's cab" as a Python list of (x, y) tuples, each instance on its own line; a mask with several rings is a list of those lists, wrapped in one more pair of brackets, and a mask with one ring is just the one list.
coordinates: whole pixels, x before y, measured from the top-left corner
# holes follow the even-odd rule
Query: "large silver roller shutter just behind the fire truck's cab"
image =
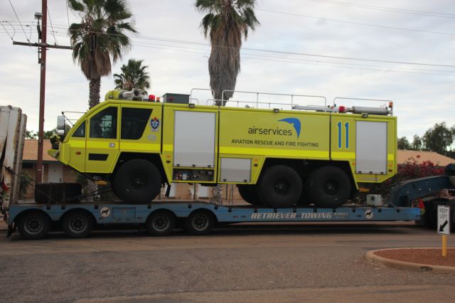
[(215, 166), (215, 112), (176, 110), (173, 165)]

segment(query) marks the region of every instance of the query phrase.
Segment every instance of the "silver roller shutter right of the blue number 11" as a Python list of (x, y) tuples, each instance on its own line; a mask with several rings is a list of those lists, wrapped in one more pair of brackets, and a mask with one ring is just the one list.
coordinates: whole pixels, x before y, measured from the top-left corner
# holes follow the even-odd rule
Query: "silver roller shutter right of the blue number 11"
[(387, 173), (387, 122), (356, 123), (355, 172)]

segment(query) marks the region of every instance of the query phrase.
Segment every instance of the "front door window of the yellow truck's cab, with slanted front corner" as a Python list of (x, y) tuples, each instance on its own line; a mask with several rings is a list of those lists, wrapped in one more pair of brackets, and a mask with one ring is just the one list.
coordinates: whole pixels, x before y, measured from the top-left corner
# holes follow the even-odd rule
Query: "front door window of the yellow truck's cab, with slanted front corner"
[(90, 138), (117, 138), (117, 107), (107, 107), (90, 119)]

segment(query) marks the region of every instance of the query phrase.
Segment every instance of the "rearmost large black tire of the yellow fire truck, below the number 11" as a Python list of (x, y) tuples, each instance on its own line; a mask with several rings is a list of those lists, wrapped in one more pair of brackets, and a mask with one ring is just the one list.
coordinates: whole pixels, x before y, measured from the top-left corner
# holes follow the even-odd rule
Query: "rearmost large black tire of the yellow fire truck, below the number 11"
[(313, 171), (305, 182), (309, 201), (321, 208), (342, 206), (350, 196), (348, 175), (336, 166), (323, 166)]

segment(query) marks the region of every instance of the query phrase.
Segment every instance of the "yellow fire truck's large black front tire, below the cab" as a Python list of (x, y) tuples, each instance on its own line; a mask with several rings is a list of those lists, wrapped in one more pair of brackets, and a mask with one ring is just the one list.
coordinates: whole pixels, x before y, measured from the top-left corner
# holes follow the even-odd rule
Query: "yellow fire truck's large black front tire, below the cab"
[(124, 201), (147, 203), (161, 190), (161, 174), (150, 161), (129, 160), (117, 170), (114, 188), (114, 192)]

